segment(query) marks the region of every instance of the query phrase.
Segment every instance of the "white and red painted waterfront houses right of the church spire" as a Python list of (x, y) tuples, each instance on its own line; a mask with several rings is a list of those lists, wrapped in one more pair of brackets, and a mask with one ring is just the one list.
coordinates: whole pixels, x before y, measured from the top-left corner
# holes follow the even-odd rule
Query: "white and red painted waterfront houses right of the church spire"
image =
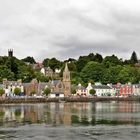
[(87, 87), (79, 84), (76, 87), (76, 95), (90, 96), (90, 90), (94, 89), (96, 91), (96, 96), (131, 96), (140, 95), (140, 84), (121, 84), (117, 83), (115, 85), (107, 84), (102, 85), (101, 83), (95, 83), (92, 85), (88, 83)]

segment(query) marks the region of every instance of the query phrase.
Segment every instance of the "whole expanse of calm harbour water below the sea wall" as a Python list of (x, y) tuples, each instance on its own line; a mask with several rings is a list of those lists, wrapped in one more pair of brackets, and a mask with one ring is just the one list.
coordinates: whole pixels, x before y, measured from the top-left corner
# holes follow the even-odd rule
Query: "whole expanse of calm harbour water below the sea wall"
[(139, 140), (139, 102), (0, 106), (0, 140)]

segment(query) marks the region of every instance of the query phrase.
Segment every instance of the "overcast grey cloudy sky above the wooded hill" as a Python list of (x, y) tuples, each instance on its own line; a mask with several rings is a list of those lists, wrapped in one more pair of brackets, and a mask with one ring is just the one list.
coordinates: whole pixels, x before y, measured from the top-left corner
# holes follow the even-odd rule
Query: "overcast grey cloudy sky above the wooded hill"
[(0, 0), (0, 55), (78, 58), (140, 52), (140, 0)]

